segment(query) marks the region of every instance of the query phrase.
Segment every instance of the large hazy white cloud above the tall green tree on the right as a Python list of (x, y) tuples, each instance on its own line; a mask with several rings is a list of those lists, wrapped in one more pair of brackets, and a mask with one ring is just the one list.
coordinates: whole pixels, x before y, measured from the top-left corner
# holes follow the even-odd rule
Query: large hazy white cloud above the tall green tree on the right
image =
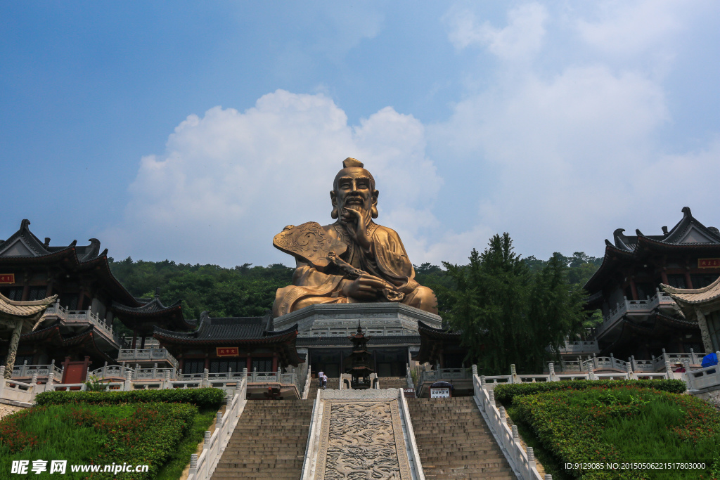
[(656, 84), (598, 65), (471, 96), (429, 134), (457, 158), (481, 158), (477, 174), (494, 168), (494, 188), (477, 195), (477, 225), (549, 255), (601, 245), (618, 212), (659, 200), (633, 186), (652, 168), (653, 135), (667, 119)]

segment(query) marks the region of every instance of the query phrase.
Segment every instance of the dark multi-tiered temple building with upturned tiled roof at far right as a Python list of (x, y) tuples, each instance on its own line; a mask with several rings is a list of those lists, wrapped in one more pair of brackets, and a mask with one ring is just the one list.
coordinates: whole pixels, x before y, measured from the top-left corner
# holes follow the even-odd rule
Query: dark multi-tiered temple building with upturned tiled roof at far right
[(698, 289), (720, 275), (720, 232), (706, 227), (683, 208), (675, 227), (662, 235), (624, 235), (606, 240), (605, 257), (585, 284), (586, 308), (600, 309), (603, 323), (593, 338), (601, 355), (651, 358), (663, 349), (678, 353), (703, 351), (701, 330), (694, 317), (683, 317), (660, 285)]

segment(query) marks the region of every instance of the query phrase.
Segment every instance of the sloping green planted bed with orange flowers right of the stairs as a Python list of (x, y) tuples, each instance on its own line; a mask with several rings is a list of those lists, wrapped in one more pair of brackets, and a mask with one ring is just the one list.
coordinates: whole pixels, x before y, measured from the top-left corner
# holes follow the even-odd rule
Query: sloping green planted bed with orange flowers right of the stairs
[[(711, 479), (720, 414), (689, 395), (634, 386), (514, 397), (508, 413), (554, 479)], [(564, 469), (564, 463), (697, 462), (694, 470)]]

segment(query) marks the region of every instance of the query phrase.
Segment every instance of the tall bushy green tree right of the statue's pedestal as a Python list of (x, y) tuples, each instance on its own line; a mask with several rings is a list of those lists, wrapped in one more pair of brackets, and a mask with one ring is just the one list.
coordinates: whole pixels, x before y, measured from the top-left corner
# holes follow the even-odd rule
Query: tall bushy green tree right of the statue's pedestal
[(562, 255), (533, 272), (503, 233), (483, 253), (472, 250), (467, 266), (444, 266), (456, 284), (446, 317), (485, 374), (507, 373), (510, 363), (541, 371), (552, 359), (548, 347), (557, 350), (566, 335), (582, 330), (584, 294), (568, 283)]

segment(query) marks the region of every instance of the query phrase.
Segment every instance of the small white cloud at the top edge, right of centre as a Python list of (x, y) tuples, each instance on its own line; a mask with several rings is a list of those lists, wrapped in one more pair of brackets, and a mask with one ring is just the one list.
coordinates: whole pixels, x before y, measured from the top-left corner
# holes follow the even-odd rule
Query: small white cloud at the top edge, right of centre
[(517, 60), (540, 50), (545, 35), (547, 12), (536, 3), (523, 4), (508, 12), (508, 26), (478, 24), (473, 12), (453, 9), (445, 17), (452, 44), (462, 49), (471, 45), (487, 47), (500, 58)]

